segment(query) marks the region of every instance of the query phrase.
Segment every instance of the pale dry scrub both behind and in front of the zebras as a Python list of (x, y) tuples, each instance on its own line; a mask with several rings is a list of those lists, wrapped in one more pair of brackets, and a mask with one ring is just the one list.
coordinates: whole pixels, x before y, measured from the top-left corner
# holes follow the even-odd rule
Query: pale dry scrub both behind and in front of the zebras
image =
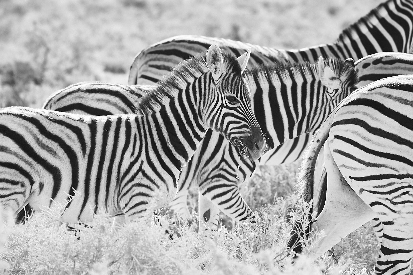
[[(379, 2), (2, 0), (0, 107), (39, 107), (55, 90), (79, 81), (126, 83), (133, 56), (173, 35), (209, 35), (285, 49), (332, 42)], [(198, 240), (195, 224), (177, 226), (180, 237), (173, 240), (153, 223), (131, 224), (109, 238), (111, 221), (106, 216), (97, 217), (95, 226), (84, 229), (76, 240), (57, 221), (61, 209), (52, 209), (24, 226), (0, 228), (0, 243), (6, 247), (0, 251), (0, 270), (297, 274), (285, 253), (297, 166), (263, 168), (242, 185), (244, 197), (261, 213), (261, 220), (241, 228), (232, 227), (223, 216), (226, 227), (217, 233), (218, 245)], [(168, 226), (168, 219), (162, 224)], [(295, 268), (305, 268), (304, 274), (366, 274), (376, 251), (375, 237), (366, 225), (335, 251), (336, 259), (341, 259), (338, 264), (325, 256), (316, 265), (302, 261)]]

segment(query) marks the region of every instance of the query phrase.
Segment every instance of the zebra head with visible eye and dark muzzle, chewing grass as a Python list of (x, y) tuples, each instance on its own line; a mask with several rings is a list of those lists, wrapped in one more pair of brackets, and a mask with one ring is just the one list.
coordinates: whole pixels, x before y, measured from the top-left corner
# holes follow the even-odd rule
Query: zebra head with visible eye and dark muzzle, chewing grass
[(242, 73), (247, 67), (251, 48), (240, 57), (222, 54), (217, 45), (207, 51), (205, 63), (209, 69), (208, 96), (201, 102), (204, 122), (221, 132), (234, 146), (248, 150), (249, 157), (258, 159), (266, 149), (261, 128), (251, 108), (251, 93)]

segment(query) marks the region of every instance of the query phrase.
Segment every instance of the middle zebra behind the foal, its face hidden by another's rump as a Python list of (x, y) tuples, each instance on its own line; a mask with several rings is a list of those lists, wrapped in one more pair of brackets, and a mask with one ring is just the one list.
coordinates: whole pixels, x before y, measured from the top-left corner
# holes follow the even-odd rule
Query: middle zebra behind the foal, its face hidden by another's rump
[[(302, 135), (303, 133), (313, 132), (321, 124), (328, 113), (344, 99), (356, 87), (356, 70), (354, 61), (349, 59), (342, 61), (338, 59), (324, 60), (320, 57), (318, 63), (295, 63), (295, 64), (276, 64), (254, 68), (245, 73), (245, 79), (250, 88), (254, 105), (261, 106), (256, 108), (260, 125), (266, 128), (268, 144), (280, 144), (286, 139)], [(64, 110), (71, 113), (86, 114), (115, 114), (134, 110), (134, 106), (139, 103), (145, 91), (140, 90), (139, 85), (111, 85), (108, 89), (104, 83), (80, 83), (60, 90), (49, 97), (43, 108), (52, 110)], [(297, 99), (291, 100), (290, 109), (286, 109), (285, 97), (295, 91)], [(277, 103), (279, 101), (279, 103)], [(271, 102), (271, 104), (270, 104)], [(289, 127), (285, 119), (285, 113), (295, 113), (301, 105), (309, 106), (306, 111), (297, 113), (292, 118), (295, 126)], [(319, 106), (324, 106), (319, 108)], [(280, 122), (275, 123), (271, 120), (263, 120), (265, 112), (273, 112), (280, 109)], [(278, 132), (276, 132), (278, 131)], [(204, 136), (200, 148), (196, 150), (188, 167), (183, 169), (178, 181), (178, 186), (183, 185), (188, 180), (189, 173), (197, 167), (200, 176), (204, 176), (205, 184), (199, 186), (201, 194), (207, 200), (215, 200), (220, 204), (225, 214), (239, 221), (254, 221), (252, 211), (244, 202), (237, 188), (238, 179), (230, 176), (228, 178), (210, 177), (210, 175), (225, 169), (228, 174), (237, 174), (238, 167), (245, 165), (255, 165), (254, 160), (241, 160), (242, 150), (236, 146), (230, 146), (228, 142), (223, 142), (224, 137), (209, 131)], [(211, 142), (223, 144), (223, 148), (210, 146)], [(273, 145), (269, 145), (272, 146)], [(199, 153), (202, 152), (202, 155)], [(205, 153), (206, 152), (206, 153)], [(211, 167), (211, 163), (214, 166)], [(235, 163), (235, 165), (231, 165)], [(240, 168), (240, 171), (250, 171), (253, 169)], [(219, 175), (221, 175), (220, 172)], [(242, 175), (244, 178), (247, 175)], [(248, 175), (250, 176), (250, 175)], [(214, 191), (209, 192), (208, 188), (214, 187)], [(218, 192), (217, 192), (218, 191)], [(207, 193), (206, 193), (207, 192)], [(208, 197), (210, 195), (210, 197)], [(202, 196), (201, 196), (202, 199)], [(186, 200), (186, 197), (185, 197)], [(200, 204), (200, 207), (207, 202)], [(186, 205), (186, 202), (185, 202)], [(209, 209), (212, 209), (210, 207)], [(234, 210), (235, 209), (235, 210)], [(188, 219), (190, 214), (183, 209), (180, 215)], [(202, 211), (202, 208), (200, 209)], [(218, 209), (219, 210), (219, 209)], [(210, 211), (211, 212), (211, 211)], [(189, 211), (188, 211), (189, 213)], [(212, 223), (207, 228), (216, 228), (216, 222), (212, 222), (210, 217), (215, 217), (209, 213), (208, 209), (202, 212), (204, 221)], [(188, 216), (185, 216), (188, 215)], [(203, 227), (202, 227), (203, 228)]]

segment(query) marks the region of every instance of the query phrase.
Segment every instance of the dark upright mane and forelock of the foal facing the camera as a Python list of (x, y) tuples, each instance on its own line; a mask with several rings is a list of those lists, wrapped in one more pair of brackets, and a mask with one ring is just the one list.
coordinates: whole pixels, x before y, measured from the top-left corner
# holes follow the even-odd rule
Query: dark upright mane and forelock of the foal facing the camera
[[(224, 68), (226, 72), (241, 75), (241, 67), (235, 55), (231, 52), (223, 52)], [(157, 110), (172, 97), (176, 96), (179, 89), (188, 85), (203, 73), (208, 71), (205, 63), (207, 52), (199, 56), (193, 56), (179, 63), (171, 70), (171, 73), (165, 75), (157, 82), (152, 89), (142, 96), (137, 106), (137, 111), (142, 115), (148, 111)]]

